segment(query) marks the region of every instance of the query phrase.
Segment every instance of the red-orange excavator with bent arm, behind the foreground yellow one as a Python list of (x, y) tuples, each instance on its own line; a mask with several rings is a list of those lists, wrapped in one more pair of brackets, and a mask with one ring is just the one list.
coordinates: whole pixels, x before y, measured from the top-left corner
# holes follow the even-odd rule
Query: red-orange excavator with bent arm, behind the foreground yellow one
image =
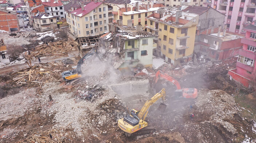
[(196, 98), (197, 97), (197, 89), (196, 88), (181, 88), (180, 83), (174, 79), (173, 77), (167, 75), (166, 73), (163, 73), (161, 71), (157, 71), (155, 74), (153, 85), (157, 84), (158, 79), (162, 77), (163, 79), (166, 79), (176, 85), (176, 91), (174, 91), (175, 96), (182, 96), (183, 98)]

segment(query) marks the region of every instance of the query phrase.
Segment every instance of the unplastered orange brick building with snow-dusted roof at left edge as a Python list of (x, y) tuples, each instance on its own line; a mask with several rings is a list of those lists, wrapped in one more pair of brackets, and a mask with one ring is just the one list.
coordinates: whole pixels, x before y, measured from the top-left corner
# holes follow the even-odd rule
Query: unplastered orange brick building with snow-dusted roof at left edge
[(6, 32), (19, 31), (19, 20), (13, 10), (0, 8), (0, 30)]

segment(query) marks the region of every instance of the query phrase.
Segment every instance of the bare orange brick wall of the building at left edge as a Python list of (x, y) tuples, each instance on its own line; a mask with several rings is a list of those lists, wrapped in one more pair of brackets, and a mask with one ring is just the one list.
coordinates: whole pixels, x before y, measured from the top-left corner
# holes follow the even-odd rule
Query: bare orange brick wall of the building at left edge
[(17, 28), (20, 30), (16, 14), (0, 11), (0, 30), (10, 32), (10, 28)]

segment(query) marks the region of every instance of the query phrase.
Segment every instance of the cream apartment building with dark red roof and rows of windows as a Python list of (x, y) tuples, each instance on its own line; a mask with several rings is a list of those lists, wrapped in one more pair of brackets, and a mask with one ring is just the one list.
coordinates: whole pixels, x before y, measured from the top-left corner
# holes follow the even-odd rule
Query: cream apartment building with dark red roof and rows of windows
[(66, 11), (70, 31), (76, 37), (88, 37), (109, 31), (108, 24), (112, 22), (112, 7), (105, 3), (90, 2), (72, 11)]

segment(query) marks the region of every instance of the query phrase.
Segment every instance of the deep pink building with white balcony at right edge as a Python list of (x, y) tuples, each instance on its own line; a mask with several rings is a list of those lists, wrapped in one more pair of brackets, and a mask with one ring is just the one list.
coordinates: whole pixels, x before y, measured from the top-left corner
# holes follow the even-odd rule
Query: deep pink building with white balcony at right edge
[(245, 87), (249, 87), (251, 80), (256, 78), (256, 21), (252, 24), (245, 26), (245, 37), (241, 39), (243, 43), (243, 49), (239, 50), (239, 56), (236, 62), (236, 68), (229, 70), (228, 74), (232, 78)]

